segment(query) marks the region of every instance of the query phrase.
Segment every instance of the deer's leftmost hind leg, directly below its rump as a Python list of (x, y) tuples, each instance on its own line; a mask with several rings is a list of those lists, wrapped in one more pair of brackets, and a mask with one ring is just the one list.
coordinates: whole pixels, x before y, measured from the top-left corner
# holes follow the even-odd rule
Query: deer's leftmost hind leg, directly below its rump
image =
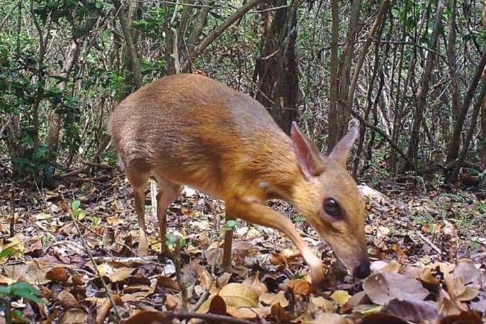
[(138, 255), (140, 256), (149, 254), (145, 226), (145, 186), (149, 175), (149, 172), (140, 172), (140, 169), (126, 168), (126, 178), (133, 185), (133, 193), (135, 194), (135, 212), (137, 212), (139, 226)]

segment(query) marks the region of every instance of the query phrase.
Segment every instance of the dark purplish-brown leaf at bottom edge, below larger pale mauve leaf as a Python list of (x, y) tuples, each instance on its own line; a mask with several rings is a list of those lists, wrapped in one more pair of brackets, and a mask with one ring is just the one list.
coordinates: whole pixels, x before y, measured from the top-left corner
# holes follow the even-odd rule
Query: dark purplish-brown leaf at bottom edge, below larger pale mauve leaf
[(410, 322), (423, 322), (439, 316), (433, 303), (422, 300), (390, 300), (381, 312)]

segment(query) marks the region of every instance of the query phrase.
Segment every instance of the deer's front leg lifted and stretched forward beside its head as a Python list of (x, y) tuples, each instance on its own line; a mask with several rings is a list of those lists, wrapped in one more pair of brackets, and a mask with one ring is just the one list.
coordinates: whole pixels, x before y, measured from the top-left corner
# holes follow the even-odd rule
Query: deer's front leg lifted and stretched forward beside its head
[(308, 244), (303, 241), (292, 221), (283, 216), (283, 214), (259, 203), (242, 201), (239, 198), (227, 199), (226, 211), (250, 223), (264, 225), (283, 232), (301, 251), (302, 257), (309, 265), (312, 282), (319, 286), (324, 280), (324, 268), (321, 260), (312, 252)]

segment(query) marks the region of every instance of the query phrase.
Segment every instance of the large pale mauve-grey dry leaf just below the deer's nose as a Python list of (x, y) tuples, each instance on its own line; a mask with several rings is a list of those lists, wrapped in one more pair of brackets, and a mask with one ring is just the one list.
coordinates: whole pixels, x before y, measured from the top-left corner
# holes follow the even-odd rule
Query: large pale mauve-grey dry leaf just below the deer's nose
[(377, 273), (363, 282), (363, 289), (369, 299), (378, 305), (385, 305), (394, 298), (402, 300), (424, 300), (428, 290), (419, 281), (399, 273)]

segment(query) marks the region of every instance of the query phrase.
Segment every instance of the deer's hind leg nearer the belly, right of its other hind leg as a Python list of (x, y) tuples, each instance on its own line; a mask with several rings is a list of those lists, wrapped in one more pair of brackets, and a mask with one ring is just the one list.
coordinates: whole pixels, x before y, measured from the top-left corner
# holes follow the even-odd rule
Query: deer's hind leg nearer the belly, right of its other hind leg
[(165, 244), (165, 233), (167, 230), (167, 208), (171, 203), (177, 199), (181, 192), (181, 185), (156, 176), (158, 185), (160, 187), (157, 194), (157, 219), (160, 230), (160, 251), (162, 254), (167, 252), (167, 246)]

